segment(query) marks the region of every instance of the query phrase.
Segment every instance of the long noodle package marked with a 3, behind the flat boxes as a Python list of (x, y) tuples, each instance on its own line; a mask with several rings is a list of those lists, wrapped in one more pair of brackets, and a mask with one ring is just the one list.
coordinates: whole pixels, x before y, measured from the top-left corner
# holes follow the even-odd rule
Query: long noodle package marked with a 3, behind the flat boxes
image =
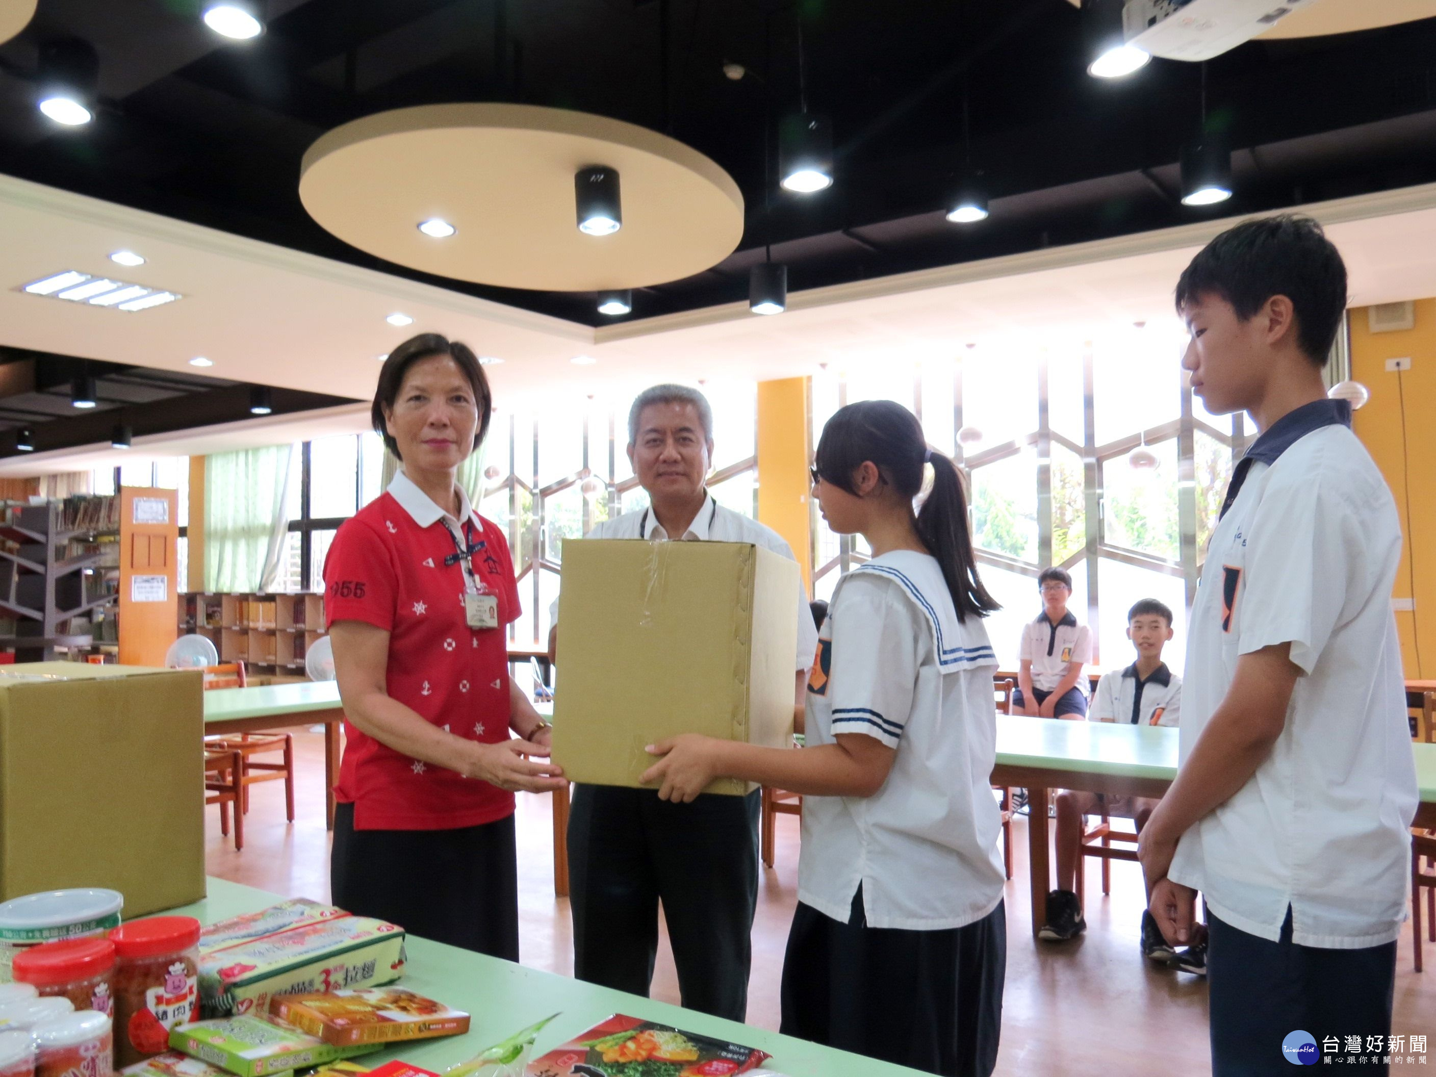
[(303, 923), (200, 955), (205, 1017), (267, 1014), (274, 995), (392, 984), (404, 975), (404, 929), (366, 916)]

